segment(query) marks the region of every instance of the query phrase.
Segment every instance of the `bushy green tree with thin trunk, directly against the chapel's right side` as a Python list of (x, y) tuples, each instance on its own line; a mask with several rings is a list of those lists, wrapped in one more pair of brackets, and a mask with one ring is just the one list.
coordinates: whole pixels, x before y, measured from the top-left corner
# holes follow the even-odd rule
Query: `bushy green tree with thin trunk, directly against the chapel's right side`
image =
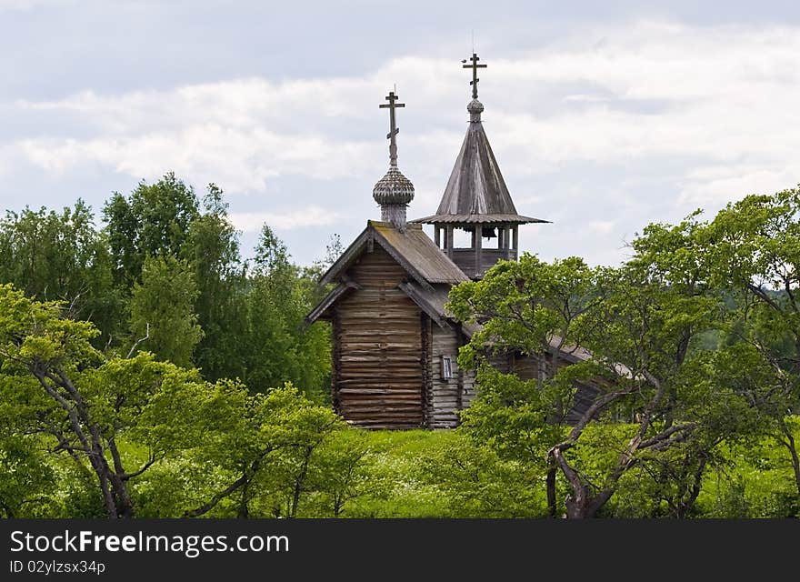
[[(575, 389), (552, 382), (520, 383), (481, 364), (495, 354), (515, 351), (535, 356), (542, 379), (552, 379), (564, 365), (564, 354), (580, 344), (580, 317), (602, 297), (600, 275), (579, 257), (548, 264), (524, 254), (519, 262), (495, 266), (480, 283), (467, 282), (451, 292), (456, 317), (483, 322), (462, 348), (462, 363), (478, 368), (483, 386), (482, 396), (464, 413), (465, 428), (505, 458), (540, 465), (546, 450), (564, 435)], [(558, 468), (552, 462), (546, 468), (548, 507), (555, 517)]]

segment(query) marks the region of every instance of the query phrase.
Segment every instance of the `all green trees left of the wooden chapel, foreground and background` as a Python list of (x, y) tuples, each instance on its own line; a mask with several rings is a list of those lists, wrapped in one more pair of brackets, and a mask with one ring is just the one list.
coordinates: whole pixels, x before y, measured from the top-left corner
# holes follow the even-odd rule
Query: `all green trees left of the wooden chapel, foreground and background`
[(0, 515), (199, 517), (236, 497), (247, 517), (268, 482), (267, 511), (293, 517), (344, 426), (328, 330), (302, 326), (337, 238), (299, 267), (265, 225), (243, 260), (222, 191), (174, 174), (102, 219), (79, 200), (0, 221)]

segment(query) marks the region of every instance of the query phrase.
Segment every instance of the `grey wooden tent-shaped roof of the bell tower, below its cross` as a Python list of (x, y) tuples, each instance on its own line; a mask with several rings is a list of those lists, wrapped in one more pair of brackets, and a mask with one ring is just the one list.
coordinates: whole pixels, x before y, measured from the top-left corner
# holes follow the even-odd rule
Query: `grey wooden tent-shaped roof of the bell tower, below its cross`
[(417, 218), (415, 223), (437, 222), (548, 222), (540, 218), (520, 216), (505, 186), (492, 146), (480, 118), (469, 123), (464, 143), (445, 194), (433, 216)]

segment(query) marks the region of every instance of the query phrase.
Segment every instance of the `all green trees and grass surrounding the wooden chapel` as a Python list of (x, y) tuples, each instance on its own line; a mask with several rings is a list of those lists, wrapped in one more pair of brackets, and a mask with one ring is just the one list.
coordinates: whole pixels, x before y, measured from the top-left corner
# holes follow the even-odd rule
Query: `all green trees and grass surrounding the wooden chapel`
[[(621, 266), (525, 254), (456, 286), (479, 389), (441, 433), (335, 415), (301, 322), (337, 242), (300, 268), (265, 227), (243, 261), (226, 212), (167, 175), (103, 228), (6, 216), (0, 516), (800, 515), (800, 191), (646, 226)], [(508, 352), (535, 378), (488, 365)]]

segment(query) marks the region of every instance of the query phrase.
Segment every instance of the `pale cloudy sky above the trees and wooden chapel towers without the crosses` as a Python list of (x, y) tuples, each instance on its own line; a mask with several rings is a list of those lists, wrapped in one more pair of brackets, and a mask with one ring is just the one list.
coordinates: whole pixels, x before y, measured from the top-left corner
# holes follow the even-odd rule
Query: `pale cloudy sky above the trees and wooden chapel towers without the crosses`
[[(380, 217), (396, 87), (409, 218), (483, 121), (520, 249), (616, 265), (651, 222), (800, 183), (800, 4), (0, 0), (0, 206), (104, 201), (166, 172), (225, 191), (243, 254), (296, 263)], [(429, 227), (428, 227), (429, 228)]]

